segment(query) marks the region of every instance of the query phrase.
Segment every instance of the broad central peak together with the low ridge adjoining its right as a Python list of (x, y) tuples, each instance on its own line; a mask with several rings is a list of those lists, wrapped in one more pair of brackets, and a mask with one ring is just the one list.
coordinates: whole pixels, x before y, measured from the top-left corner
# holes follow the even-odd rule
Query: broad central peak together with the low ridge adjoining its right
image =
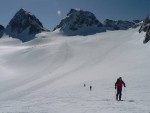
[(60, 24), (54, 28), (66, 35), (89, 35), (106, 30), (127, 30), (129, 28), (136, 28), (140, 21), (123, 21), (106, 19), (104, 24), (89, 11), (80, 9), (71, 9)]

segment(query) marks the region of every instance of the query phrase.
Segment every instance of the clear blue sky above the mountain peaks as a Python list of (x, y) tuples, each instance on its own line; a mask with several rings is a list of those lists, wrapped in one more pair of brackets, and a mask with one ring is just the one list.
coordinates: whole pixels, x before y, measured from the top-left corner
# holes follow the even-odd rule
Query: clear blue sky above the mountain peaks
[(90, 11), (102, 23), (105, 19), (142, 20), (150, 14), (150, 0), (0, 0), (0, 24), (6, 27), (20, 8), (52, 31), (71, 8)]

